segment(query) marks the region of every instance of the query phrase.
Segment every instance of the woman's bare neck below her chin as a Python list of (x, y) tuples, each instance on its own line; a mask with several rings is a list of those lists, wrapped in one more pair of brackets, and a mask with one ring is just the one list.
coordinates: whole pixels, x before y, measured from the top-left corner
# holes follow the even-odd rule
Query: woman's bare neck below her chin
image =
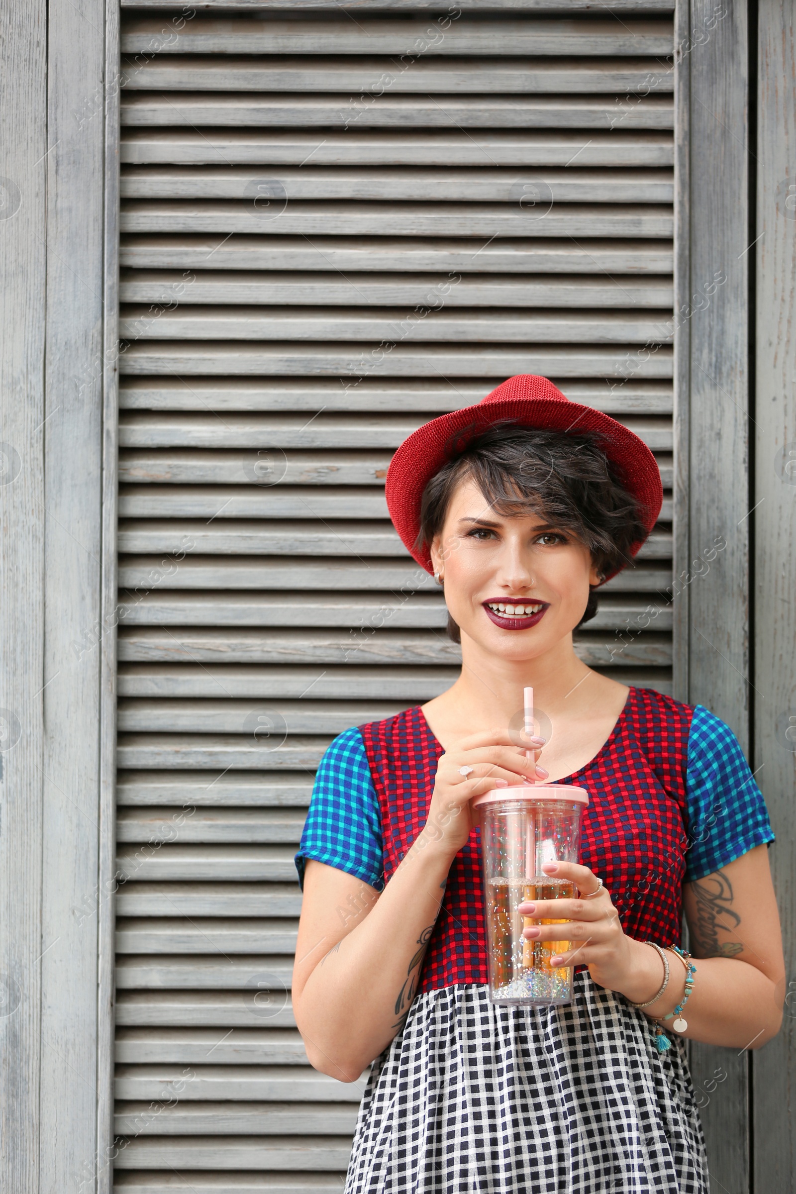
[(449, 690), (459, 708), (480, 726), (506, 725), (523, 708), (523, 689), (533, 689), (533, 703), (555, 718), (588, 698), (587, 677), (594, 673), (574, 652), (572, 634), (536, 659), (501, 659), (462, 634), (462, 675)]

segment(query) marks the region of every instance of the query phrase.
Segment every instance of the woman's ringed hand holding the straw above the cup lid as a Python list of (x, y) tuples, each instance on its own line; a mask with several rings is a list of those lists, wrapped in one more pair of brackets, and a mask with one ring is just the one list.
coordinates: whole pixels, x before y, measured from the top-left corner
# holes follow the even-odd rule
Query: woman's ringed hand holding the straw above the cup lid
[[(519, 787), (533, 777), (547, 780), (548, 771), (536, 762), (545, 739), (529, 738), (527, 743), (531, 757), (525, 747), (516, 745), (507, 730), (488, 730), (453, 743), (437, 764), (428, 819), (420, 832), (424, 844), (442, 843), (457, 854), (473, 829), (474, 796), (494, 788)], [(465, 767), (471, 770), (462, 775), (461, 768)]]

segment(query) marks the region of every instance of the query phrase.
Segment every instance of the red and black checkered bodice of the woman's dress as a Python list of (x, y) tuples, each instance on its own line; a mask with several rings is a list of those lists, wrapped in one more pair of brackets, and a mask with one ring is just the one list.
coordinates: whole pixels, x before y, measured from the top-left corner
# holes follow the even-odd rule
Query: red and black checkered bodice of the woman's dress
[[(603, 749), (559, 781), (588, 792), (580, 861), (603, 878), (624, 931), (662, 946), (680, 941), (692, 712), (652, 689), (631, 688)], [(389, 882), (426, 823), (443, 747), (416, 706), (359, 728), (381, 807)], [(419, 990), (486, 981), (480, 830), (474, 829), (453, 858)]]

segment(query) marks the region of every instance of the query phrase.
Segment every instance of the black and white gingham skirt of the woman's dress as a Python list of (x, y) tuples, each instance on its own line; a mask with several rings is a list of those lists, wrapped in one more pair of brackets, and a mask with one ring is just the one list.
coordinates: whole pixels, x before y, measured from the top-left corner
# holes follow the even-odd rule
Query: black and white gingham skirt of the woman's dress
[[(672, 1034), (673, 1035), (673, 1034)], [(415, 998), (374, 1069), (346, 1194), (708, 1194), (685, 1045), (575, 974), (560, 1008)]]

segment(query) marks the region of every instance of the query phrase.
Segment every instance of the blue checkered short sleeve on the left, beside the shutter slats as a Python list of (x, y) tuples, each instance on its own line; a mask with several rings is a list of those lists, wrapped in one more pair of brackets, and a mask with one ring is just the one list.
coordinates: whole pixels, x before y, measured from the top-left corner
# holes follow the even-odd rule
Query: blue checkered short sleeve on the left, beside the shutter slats
[(296, 869), (304, 886), (304, 860), (384, 886), (382, 823), (365, 744), (358, 730), (339, 734), (321, 759), (301, 836)]

